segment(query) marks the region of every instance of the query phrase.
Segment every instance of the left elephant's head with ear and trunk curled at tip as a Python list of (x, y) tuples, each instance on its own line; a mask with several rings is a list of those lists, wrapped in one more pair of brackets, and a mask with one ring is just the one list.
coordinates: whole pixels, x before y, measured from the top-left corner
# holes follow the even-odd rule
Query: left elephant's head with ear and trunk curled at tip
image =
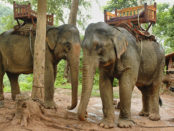
[(52, 52), (55, 63), (66, 59), (70, 65), (72, 104), (69, 109), (77, 105), (78, 95), (78, 70), (80, 57), (80, 36), (78, 29), (69, 24), (59, 27), (51, 27), (47, 30), (46, 41), (49, 50)]

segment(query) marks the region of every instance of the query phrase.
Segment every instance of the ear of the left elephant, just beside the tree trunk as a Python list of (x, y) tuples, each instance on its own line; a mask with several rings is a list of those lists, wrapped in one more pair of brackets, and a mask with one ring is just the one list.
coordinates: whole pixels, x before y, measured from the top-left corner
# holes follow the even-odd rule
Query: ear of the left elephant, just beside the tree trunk
[(57, 43), (57, 29), (50, 29), (47, 31), (46, 42), (51, 50), (53, 50)]

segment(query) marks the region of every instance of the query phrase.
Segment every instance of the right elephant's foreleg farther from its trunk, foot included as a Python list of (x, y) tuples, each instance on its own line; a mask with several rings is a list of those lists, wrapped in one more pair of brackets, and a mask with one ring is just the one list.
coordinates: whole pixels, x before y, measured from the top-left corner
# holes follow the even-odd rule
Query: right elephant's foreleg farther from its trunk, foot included
[(124, 72), (119, 79), (120, 115), (118, 127), (128, 128), (133, 125), (131, 121), (131, 97), (136, 78), (130, 71)]

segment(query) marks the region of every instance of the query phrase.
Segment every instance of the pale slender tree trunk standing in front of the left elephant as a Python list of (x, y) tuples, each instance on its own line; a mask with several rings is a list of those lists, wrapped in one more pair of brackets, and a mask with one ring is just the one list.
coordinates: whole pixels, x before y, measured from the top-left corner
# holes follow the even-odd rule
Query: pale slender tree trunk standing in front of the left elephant
[(37, 29), (34, 45), (34, 67), (32, 99), (44, 98), (45, 39), (46, 39), (46, 0), (38, 0)]

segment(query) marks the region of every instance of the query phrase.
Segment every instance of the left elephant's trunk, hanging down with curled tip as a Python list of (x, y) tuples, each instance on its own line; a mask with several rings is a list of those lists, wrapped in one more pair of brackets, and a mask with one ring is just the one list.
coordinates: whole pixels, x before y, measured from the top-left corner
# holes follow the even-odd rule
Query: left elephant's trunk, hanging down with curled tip
[(70, 65), (71, 87), (72, 87), (72, 102), (71, 106), (68, 106), (69, 110), (74, 109), (77, 106), (77, 101), (78, 101), (79, 56), (80, 56), (80, 44), (75, 44), (73, 46), (72, 53), (69, 55), (68, 58), (68, 63)]

